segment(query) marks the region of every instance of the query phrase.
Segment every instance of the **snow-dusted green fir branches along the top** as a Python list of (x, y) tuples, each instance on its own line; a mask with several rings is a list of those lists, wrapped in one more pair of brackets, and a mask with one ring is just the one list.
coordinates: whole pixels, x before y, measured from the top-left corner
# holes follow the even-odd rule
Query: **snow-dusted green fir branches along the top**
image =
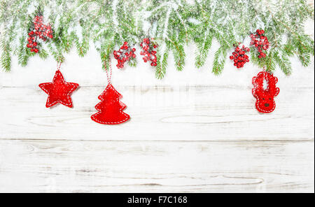
[[(41, 43), (34, 54), (26, 47), (27, 33), (38, 14), (52, 24), (54, 38)], [(93, 44), (105, 62), (103, 68), (108, 69), (113, 50), (125, 41), (139, 46), (148, 37), (159, 45), (155, 75), (163, 78), (169, 55), (181, 71), (186, 59), (184, 47), (195, 43), (195, 66), (200, 68), (216, 40), (219, 48), (214, 51), (211, 70), (220, 74), (233, 44), (248, 41), (256, 29), (265, 29), (271, 44), (267, 57), (258, 59), (251, 48), (251, 62), (268, 71), (279, 67), (289, 75), (290, 57), (296, 56), (308, 66), (314, 56), (314, 40), (304, 34), (303, 24), (309, 18), (314, 20), (314, 8), (304, 0), (0, 0), (0, 63), (9, 71), (12, 55), (22, 66), (34, 55), (62, 62), (71, 48), (83, 57)], [(137, 61), (128, 64), (137, 66)]]

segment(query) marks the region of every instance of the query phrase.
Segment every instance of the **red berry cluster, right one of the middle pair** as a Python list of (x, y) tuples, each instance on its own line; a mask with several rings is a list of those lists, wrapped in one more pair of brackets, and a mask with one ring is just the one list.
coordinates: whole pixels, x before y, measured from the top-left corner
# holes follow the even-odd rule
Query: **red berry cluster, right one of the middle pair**
[(154, 49), (158, 48), (158, 45), (153, 43), (152, 40), (153, 38), (151, 38), (151, 41), (149, 38), (144, 38), (144, 41), (140, 43), (142, 48), (140, 55), (144, 55), (142, 58), (144, 59), (144, 62), (151, 61), (151, 66), (157, 66), (156, 51)]

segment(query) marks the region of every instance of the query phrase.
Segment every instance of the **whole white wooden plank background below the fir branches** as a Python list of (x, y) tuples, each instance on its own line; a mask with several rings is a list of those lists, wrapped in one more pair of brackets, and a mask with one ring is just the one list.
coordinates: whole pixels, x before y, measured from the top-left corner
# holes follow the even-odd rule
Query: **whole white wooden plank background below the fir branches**
[[(314, 37), (314, 21), (307, 22)], [(211, 73), (211, 55), (194, 67), (186, 48), (184, 71), (163, 80), (139, 59), (137, 68), (114, 69), (130, 122), (92, 122), (106, 87), (99, 55), (66, 55), (62, 73), (80, 84), (73, 108), (45, 108), (38, 83), (55, 74), (53, 59), (27, 67), (13, 58), (0, 72), (0, 192), (314, 192), (314, 57), (293, 74), (278, 69), (276, 110), (259, 114), (251, 78), (260, 69), (230, 61)], [(114, 64), (114, 62), (113, 62)]]

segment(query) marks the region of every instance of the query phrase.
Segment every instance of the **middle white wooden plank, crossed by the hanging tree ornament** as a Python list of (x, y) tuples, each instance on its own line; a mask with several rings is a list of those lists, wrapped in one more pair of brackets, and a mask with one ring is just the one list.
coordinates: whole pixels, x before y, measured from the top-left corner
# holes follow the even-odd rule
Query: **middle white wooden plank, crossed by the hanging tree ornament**
[(130, 122), (97, 124), (90, 119), (104, 87), (80, 87), (74, 108), (45, 108), (38, 87), (0, 89), (1, 139), (66, 140), (313, 140), (314, 88), (289, 88), (276, 110), (255, 110), (251, 88), (117, 87)]

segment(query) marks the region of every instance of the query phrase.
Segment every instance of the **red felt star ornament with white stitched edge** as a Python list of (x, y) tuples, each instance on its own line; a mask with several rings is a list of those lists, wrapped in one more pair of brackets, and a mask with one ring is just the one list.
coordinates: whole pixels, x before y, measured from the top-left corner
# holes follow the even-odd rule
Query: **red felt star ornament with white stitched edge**
[(56, 103), (62, 103), (64, 106), (72, 108), (70, 94), (78, 88), (78, 83), (66, 83), (59, 70), (56, 71), (52, 83), (41, 83), (38, 86), (48, 94), (47, 108), (54, 106)]

